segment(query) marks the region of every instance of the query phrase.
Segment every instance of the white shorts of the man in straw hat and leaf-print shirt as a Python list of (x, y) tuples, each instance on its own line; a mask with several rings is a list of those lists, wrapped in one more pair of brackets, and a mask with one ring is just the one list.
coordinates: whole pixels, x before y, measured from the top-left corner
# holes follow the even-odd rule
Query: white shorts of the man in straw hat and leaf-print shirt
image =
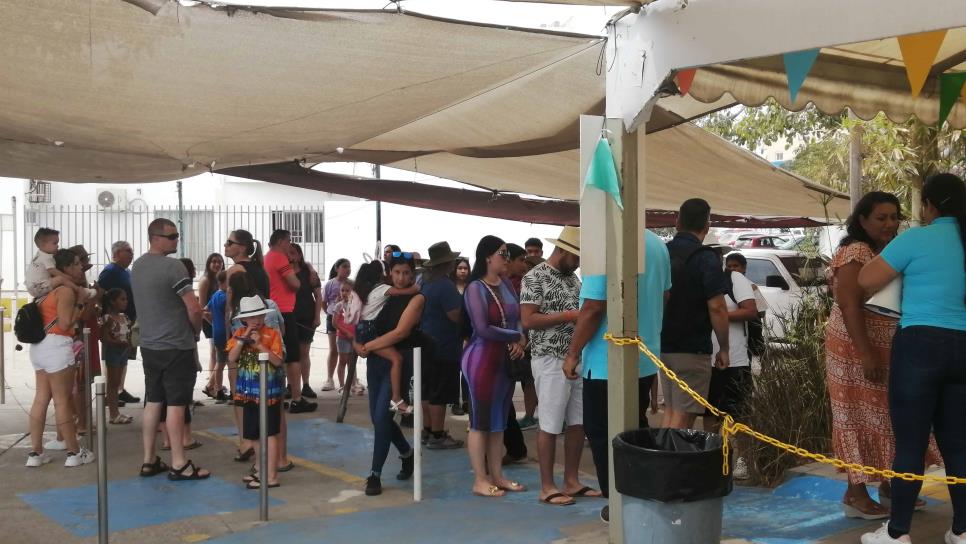
[(550, 434), (562, 433), (564, 423), (567, 426), (584, 424), (584, 380), (568, 380), (563, 373), (563, 361), (560, 357), (540, 356), (533, 357), (530, 363), (537, 390), (540, 430)]

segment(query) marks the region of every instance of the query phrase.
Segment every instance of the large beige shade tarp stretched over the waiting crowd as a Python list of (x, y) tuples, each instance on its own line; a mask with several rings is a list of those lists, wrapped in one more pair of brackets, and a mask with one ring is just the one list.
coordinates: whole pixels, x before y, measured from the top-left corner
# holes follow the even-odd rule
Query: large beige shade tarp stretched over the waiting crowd
[[(153, 181), (209, 168), (364, 160), (576, 198), (577, 118), (600, 114), (597, 37), (395, 12), (0, 3), (0, 175)], [(648, 124), (648, 207), (823, 217), (813, 187), (673, 126), (724, 107), (668, 98)], [(343, 152), (338, 152), (338, 149)], [(842, 215), (844, 200), (832, 205)]]

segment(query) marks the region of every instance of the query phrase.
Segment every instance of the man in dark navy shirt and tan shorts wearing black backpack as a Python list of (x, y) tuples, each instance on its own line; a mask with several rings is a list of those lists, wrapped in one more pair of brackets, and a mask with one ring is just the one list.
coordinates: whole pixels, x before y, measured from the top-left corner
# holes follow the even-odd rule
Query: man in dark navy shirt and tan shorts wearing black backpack
[[(661, 359), (701, 396), (711, 384), (711, 361), (728, 368), (727, 278), (717, 251), (702, 244), (710, 230), (711, 206), (700, 198), (681, 204), (677, 234), (667, 243), (671, 257), (671, 296), (664, 311)], [(718, 339), (715, 352), (711, 331)], [(704, 408), (676, 384), (661, 376), (664, 391), (664, 427), (687, 429)]]

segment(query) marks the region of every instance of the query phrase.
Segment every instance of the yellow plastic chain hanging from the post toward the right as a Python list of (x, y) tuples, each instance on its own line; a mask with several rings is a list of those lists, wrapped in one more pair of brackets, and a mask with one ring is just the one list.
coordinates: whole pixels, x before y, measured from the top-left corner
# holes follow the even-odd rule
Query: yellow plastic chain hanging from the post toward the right
[(677, 374), (673, 370), (667, 367), (663, 361), (657, 358), (656, 355), (651, 353), (651, 350), (644, 345), (644, 342), (640, 338), (629, 338), (629, 337), (618, 337), (610, 333), (604, 335), (604, 340), (611, 342), (618, 346), (629, 346), (636, 345), (637, 348), (647, 356), (648, 359), (657, 366), (661, 372), (663, 372), (669, 380), (678, 385), (685, 393), (691, 395), (695, 401), (697, 401), (701, 406), (707, 408), (712, 414), (722, 418), (723, 423), (721, 424), (721, 438), (722, 446), (721, 453), (724, 457), (721, 463), (721, 471), (723, 474), (727, 475), (730, 467), (728, 466), (728, 450), (730, 448), (729, 439), (732, 435), (738, 433), (744, 433), (756, 440), (760, 440), (766, 444), (770, 444), (778, 449), (785, 450), (789, 453), (798, 455), (799, 457), (804, 457), (806, 459), (811, 459), (813, 461), (818, 461), (819, 463), (825, 463), (827, 465), (832, 465), (835, 468), (846, 469), (855, 472), (861, 472), (863, 474), (868, 474), (870, 476), (881, 476), (883, 478), (899, 478), (906, 481), (920, 481), (920, 482), (939, 482), (947, 485), (955, 484), (966, 484), (966, 478), (956, 478), (955, 476), (932, 476), (932, 475), (920, 475), (911, 474), (908, 472), (895, 472), (894, 470), (885, 470), (875, 467), (868, 467), (860, 465), (858, 463), (846, 463), (841, 459), (836, 459), (835, 457), (829, 457), (827, 455), (822, 455), (821, 453), (812, 453), (804, 448), (782, 442), (781, 440), (772, 438), (768, 435), (762, 434), (751, 427), (745, 425), (744, 423), (738, 423), (735, 421), (731, 415), (723, 410), (719, 410), (711, 405), (704, 397), (699, 395), (691, 386), (687, 384), (681, 378), (678, 378)]

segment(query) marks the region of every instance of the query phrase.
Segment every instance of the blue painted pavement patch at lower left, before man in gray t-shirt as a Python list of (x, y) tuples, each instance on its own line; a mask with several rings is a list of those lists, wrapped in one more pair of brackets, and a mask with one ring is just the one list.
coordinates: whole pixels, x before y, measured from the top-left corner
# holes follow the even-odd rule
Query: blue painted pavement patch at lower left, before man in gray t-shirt
[[(79, 537), (97, 535), (97, 486), (20, 493), (21, 500)], [(196, 516), (257, 509), (258, 493), (221, 478), (171, 482), (165, 475), (109, 482), (111, 532), (160, 525)], [(271, 499), (272, 505), (284, 501)], [(257, 514), (253, 514), (256, 515)]]

